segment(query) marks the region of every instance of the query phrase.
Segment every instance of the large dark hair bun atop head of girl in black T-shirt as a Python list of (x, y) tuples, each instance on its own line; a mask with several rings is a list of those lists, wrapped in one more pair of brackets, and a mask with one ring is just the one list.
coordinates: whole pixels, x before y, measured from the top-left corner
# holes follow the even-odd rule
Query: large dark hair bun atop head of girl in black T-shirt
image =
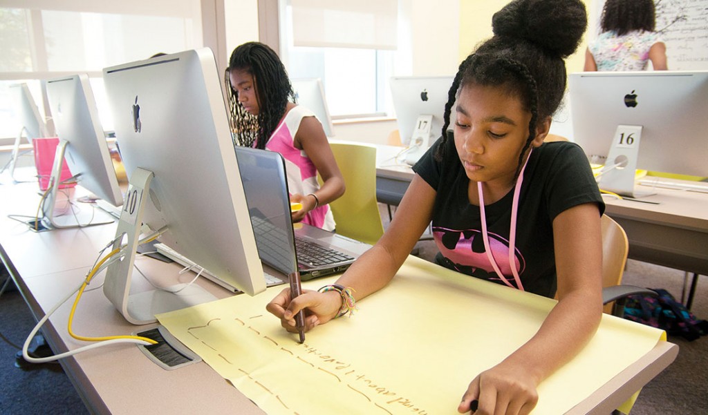
[(527, 40), (562, 58), (578, 49), (587, 25), (581, 0), (514, 0), (492, 17), (494, 35)]

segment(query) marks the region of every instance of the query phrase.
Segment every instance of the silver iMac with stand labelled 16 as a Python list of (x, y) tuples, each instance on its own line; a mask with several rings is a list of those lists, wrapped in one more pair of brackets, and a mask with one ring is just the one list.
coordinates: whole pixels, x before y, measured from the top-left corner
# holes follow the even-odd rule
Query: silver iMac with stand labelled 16
[(604, 164), (601, 189), (629, 197), (637, 168), (708, 176), (708, 71), (579, 72), (573, 141)]

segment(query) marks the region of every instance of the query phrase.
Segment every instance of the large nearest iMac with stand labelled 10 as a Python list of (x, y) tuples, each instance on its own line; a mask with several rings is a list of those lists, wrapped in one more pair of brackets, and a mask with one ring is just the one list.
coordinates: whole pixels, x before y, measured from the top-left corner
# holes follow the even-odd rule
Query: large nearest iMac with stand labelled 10
[(229, 131), (214, 55), (208, 48), (103, 69), (105, 92), (129, 187), (105, 296), (141, 325), (160, 312), (214, 300), (196, 284), (131, 293), (144, 234), (253, 296), (265, 276)]

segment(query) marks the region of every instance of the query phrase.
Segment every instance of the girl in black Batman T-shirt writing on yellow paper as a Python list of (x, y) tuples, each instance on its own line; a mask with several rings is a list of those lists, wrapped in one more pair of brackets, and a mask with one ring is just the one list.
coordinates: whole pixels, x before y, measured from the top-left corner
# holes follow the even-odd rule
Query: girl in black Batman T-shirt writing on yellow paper
[(566, 88), (564, 58), (586, 25), (581, 0), (515, 0), (498, 11), (494, 36), (459, 66), (442, 136), (413, 167), (384, 236), (334, 288), (294, 300), (287, 290), (276, 296), (267, 308), (282, 326), (294, 331), (292, 316), (305, 309), (312, 329), (384, 288), (432, 221), (443, 267), (541, 296), (557, 293), (559, 303), (534, 337), (459, 385), (460, 412), (528, 414), (539, 382), (583, 348), (602, 315), (605, 205), (582, 149), (544, 143)]

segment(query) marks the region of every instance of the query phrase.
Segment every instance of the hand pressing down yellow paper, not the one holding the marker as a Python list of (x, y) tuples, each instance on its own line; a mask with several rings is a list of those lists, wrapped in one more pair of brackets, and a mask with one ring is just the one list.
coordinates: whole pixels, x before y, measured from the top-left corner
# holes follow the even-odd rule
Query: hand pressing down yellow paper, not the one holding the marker
[(537, 385), (525, 368), (502, 362), (472, 380), (457, 411), (464, 414), (477, 401), (475, 415), (530, 414), (538, 402)]

